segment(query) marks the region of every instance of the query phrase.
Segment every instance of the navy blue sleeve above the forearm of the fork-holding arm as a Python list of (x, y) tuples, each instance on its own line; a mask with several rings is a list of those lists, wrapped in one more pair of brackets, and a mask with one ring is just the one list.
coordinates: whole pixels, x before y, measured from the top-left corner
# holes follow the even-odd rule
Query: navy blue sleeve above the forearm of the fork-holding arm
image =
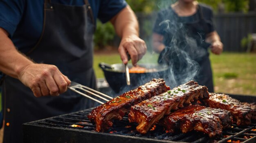
[(25, 0), (0, 0), (0, 27), (10, 37), (15, 32), (24, 10)]

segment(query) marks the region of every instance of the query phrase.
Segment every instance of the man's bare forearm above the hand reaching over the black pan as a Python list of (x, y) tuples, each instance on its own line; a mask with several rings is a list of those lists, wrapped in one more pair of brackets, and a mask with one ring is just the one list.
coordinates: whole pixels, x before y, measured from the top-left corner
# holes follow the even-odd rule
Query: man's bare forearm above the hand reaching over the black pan
[(126, 6), (126, 8), (113, 17), (111, 23), (114, 25), (119, 37), (129, 35), (139, 36), (139, 24), (130, 6)]

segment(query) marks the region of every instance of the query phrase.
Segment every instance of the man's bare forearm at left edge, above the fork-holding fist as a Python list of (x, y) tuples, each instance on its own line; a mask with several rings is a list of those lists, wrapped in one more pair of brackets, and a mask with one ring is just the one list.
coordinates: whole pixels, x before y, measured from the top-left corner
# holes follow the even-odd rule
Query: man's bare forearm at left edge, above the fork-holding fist
[(8, 33), (2, 28), (0, 28), (0, 57), (0, 71), (13, 78), (18, 78), (20, 71), (33, 63), (16, 50)]

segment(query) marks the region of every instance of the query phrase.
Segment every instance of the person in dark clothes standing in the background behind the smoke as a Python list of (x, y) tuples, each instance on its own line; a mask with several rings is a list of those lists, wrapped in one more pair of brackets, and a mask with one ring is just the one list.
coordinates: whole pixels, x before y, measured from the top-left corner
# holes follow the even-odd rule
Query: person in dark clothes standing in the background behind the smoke
[[(153, 32), (153, 49), (160, 53), (158, 62), (173, 67), (173, 77), (184, 71), (191, 72), (184, 70), (184, 67), (191, 63), (182, 63), (186, 56), (181, 59), (181, 54), (185, 52), (191, 60), (200, 65), (194, 80), (207, 86), (209, 92), (213, 92), (208, 48), (213, 54), (221, 54), (223, 44), (213, 26), (212, 9), (198, 4), (195, 0), (178, 0), (158, 13)], [(182, 76), (176, 78), (182, 80), (178, 79)]]

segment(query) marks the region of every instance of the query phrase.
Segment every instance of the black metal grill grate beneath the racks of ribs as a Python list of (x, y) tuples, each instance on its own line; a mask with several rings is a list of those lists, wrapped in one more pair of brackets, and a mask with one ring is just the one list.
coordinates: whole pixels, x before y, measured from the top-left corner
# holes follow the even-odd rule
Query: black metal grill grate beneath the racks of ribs
[[(76, 113), (71, 113), (67, 115), (61, 115), (57, 117), (52, 117), (48, 119), (39, 120), (36, 122), (31, 122), (37, 126), (43, 127), (57, 127), (75, 130), (86, 130), (92, 133), (95, 132), (95, 126), (90, 123), (87, 115), (92, 109), (85, 111), (79, 111)], [(73, 126), (72, 126), (73, 125)], [(75, 127), (76, 125), (76, 127)], [(169, 143), (184, 142), (184, 143), (226, 143), (227, 141), (240, 141), (243, 143), (255, 143), (256, 142), (256, 123), (252, 123), (250, 126), (237, 126), (232, 125), (233, 128), (227, 128), (223, 130), (222, 137), (217, 139), (209, 139), (207, 135), (199, 132), (189, 132), (186, 134), (182, 133), (166, 133), (164, 128), (157, 126), (155, 130), (149, 131), (147, 134), (140, 134), (136, 131), (136, 124), (129, 123), (128, 117), (124, 117), (122, 121), (116, 121), (112, 128), (110, 128), (105, 134), (110, 134), (110, 136), (122, 135), (128, 137), (140, 137), (153, 139), (155, 141), (170, 141)], [(246, 139), (247, 137), (247, 139)]]

